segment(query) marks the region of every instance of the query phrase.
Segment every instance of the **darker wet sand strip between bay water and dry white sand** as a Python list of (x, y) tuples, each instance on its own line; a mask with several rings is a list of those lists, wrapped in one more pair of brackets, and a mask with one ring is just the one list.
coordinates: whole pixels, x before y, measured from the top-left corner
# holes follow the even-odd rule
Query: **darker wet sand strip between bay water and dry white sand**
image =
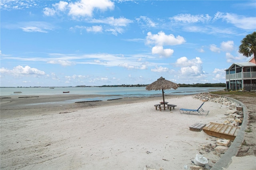
[[(109, 101), (90, 101), (75, 103), (85, 98), (102, 97), (104, 95), (15, 95), (12, 98), (1, 96), (0, 119), (18, 118), (49, 113), (62, 113), (88, 108), (138, 103), (152, 100), (162, 101), (161, 97), (129, 97)], [(112, 96), (112, 95), (111, 95)], [(167, 99), (191, 95), (166, 95)], [(117, 96), (119, 98), (119, 96)], [(65, 102), (69, 101), (69, 102)], [(72, 102), (70, 102), (72, 101)]]

